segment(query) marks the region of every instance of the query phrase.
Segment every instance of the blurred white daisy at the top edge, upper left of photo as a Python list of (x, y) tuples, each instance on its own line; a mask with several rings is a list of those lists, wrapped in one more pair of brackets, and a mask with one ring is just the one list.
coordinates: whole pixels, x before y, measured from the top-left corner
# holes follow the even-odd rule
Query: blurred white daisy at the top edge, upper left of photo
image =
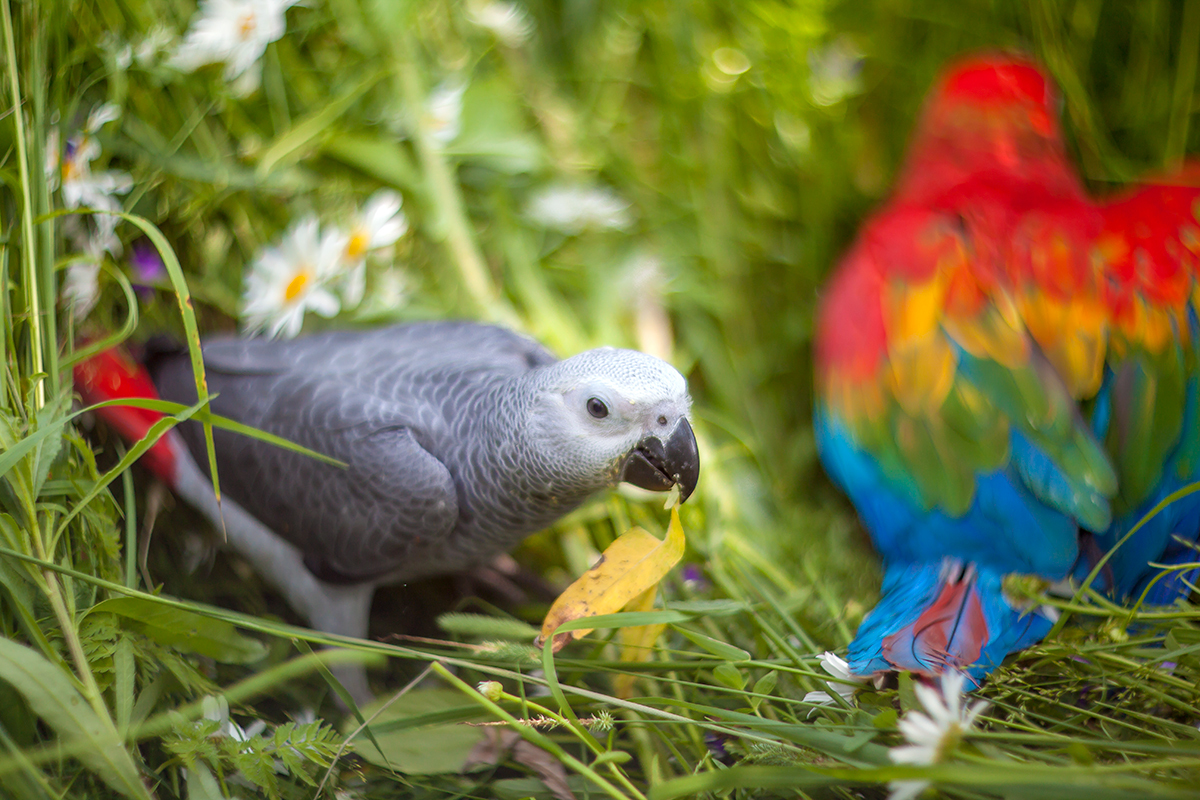
[[(200, 0), (197, 16), (170, 65), (193, 72), (223, 61), (226, 80), (234, 82), (254, 66), (266, 46), (283, 36), (283, 12), (296, 0)], [(257, 85), (257, 82), (256, 82)]]

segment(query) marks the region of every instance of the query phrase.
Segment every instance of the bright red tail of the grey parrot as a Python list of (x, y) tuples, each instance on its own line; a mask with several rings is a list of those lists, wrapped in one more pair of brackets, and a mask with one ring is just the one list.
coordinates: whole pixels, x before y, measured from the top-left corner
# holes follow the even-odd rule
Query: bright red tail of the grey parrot
[[(85, 405), (125, 398), (158, 399), (150, 373), (120, 348), (109, 348), (77, 363), (74, 386)], [(96, 415), (131, 443), (143, 439), (163, 417), (158, 411), (133, 405), (106, 405), (96, 409)], [(174, 486), (181, 447), (182, 441), (168, 432), (142, 456), (142, 463)]]

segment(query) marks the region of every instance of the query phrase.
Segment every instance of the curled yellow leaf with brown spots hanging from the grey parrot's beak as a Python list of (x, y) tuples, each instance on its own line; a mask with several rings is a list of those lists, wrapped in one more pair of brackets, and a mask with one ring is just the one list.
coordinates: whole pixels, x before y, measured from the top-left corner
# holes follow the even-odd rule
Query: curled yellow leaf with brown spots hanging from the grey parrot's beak
[[(541, 625), (538, 644), (544, 643), (563, 622), (614, 614), (642, 593), (656, 587), (683, 558), (684, 545), (683, 524), (677, 509), (671, 510), (671, 524), (662, 540), (641, 528), (625, 531), (608, 546), (595, 566), (580, 576), (554, 601)], [(571, 631), (556, 636), (554, 652), (562, 650), (568, 642), (590, 632)]]

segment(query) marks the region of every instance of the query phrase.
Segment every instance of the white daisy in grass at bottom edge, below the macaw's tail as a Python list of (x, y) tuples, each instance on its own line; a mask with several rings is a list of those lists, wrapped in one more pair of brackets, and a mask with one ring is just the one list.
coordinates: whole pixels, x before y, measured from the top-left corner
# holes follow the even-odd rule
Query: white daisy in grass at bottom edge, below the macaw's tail
[[(918, 684), (917, 699), (925, 708), (908, 711), (896, 726), (908, 741), (888, 751), (896, 764), (940, 764), (954, 753), (976, 718), (988, 708), (979, 700), (971, 708), (962, 703), (962, 686), (966, 676), (960, 672), (942, 673), (941, 691)], [(888, 800), (911, 800), (929, 787), (929, 781), (892, 781)]]

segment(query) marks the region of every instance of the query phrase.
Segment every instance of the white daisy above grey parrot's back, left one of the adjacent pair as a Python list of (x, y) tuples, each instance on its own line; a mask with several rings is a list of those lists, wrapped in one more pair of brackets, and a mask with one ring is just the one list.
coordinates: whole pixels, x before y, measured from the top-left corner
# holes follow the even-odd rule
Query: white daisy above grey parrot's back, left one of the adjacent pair
[(263, 251), (246, 278), (242, 325), (292, 338), (304, 325), (305, 312), (332, 317), (341, 309), (328, 284), (342, 269), (346, 234), (322, 233), (316, 217), (295, 223), (277, 247)]

